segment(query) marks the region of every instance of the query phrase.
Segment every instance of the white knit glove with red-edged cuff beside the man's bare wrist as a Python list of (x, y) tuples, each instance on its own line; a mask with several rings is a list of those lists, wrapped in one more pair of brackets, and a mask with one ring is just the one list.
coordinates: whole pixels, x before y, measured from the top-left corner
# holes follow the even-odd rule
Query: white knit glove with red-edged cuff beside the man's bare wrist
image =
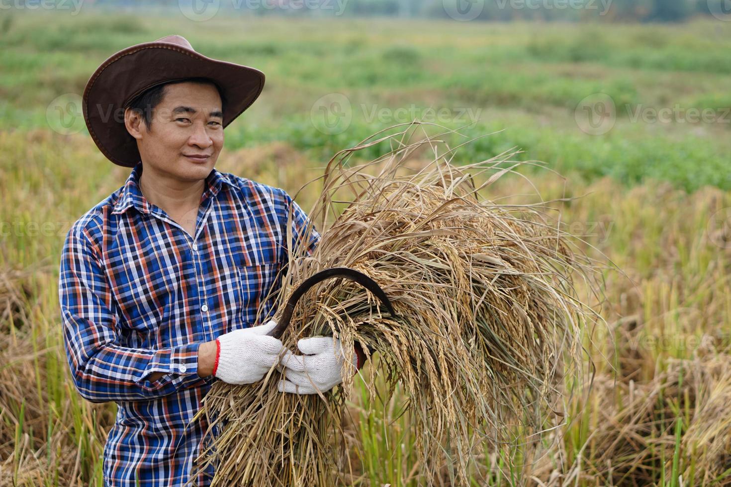
[[(213, 375), (230, 384), (251, 384), (262, 380), (274, 364), (284, 345), (267, 334), (276, 326), (270, 320), (253, 326), (222, 334), (216, 339), (218, 350)], [(290, 352), (291, 353), (291, 352)]]

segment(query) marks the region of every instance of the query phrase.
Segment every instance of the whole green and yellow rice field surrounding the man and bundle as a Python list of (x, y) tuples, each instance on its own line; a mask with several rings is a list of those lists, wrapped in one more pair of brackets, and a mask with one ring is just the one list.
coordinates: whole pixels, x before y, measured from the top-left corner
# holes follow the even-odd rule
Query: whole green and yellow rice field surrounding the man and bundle
[[(227, 127), (219, 170), (295, 193), (338, 150), (414, 118), (460, 128), (453, 146), (483, 136), (455, 164), (516, 149), (545, 162), (487, 196), (550, 201), (600, 269), (602, 299), (586, 302), (603, 321), (586, 330), (586, 384), (561, 421), (472, 451), (471, 485), (731, 484), (731, 22), (192, 22), (16, 8), (0, 11), (0, 486), (102, 485), (115, 405), (84, 401), (69, 378), (58, 259), (70, 225), (129, 169), (96, 149), (79, 102), (108, 56), (168, 34), (267, 75)], [(448, 464), (423, 475), (406, 398), (371, 403), (356, 382), (349, 482), (454, 484)]]

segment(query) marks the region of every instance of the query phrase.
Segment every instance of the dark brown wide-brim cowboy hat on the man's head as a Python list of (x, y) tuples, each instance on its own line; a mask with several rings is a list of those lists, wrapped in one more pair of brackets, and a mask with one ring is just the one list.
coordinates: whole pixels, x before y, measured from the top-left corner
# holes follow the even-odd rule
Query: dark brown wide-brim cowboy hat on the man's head
[(219, 86), (224, 129), (259, 97), (265, 79), (258, 69), (199, 54), (177, 35), (127, 47), (104, 61), (84, 89), (84, 120), (96, 147), (114, 164), (135, 166), (140, 152), (124, 126), (124, 107), (148, 88), (189, 77)]

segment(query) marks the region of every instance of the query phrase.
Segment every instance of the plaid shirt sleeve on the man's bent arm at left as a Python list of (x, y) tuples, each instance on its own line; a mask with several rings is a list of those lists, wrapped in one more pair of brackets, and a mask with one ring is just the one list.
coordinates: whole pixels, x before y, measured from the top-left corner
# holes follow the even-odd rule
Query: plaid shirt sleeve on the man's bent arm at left
[[(72, 378), (91, 402), (166, 396), (199, 382), (198, 347), (159, 350), (121, 346), (119, 317), (99, 253), (83, 229), (72, 228), (61, 253), (58, 295)], [(163, 372), (155, 381), (154, 372)]]

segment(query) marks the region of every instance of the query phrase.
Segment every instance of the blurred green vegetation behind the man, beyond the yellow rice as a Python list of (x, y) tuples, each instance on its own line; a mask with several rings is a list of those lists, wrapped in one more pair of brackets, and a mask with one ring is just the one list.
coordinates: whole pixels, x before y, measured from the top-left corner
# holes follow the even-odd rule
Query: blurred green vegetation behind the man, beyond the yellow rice
[[(0, 23), (0, 129), (48, 127), (57, 96), (83, 93), (115, 51), (176, 33), (200, 53), (262, 69), (260, 99), (226, 129), (226, 147), (287, 142), (323, 162), (412, 118), (482, 137), (458, 158), (519, 157), (559, 172), (626, 184), (648, 177), (688, 191), (731, 188), (731, 25), (485, 23), (436, 20), (78, 15), (16, 10)], [(10, 20), (9, 20), (10, 19)], [(352, 118), (320, 131), (322, 96), (341, 93)], [(577, 107), (605, 93), (613, 128), (580, 130)], [(639, 113), (678, 107), (663, 123)], [(690, 123), (689, 110), (711, 110)], [(433, 115), (449, 115), (434, 118)], [(80, 110), (78, 111), (80, 116)], [(331, 114), (336, 116), (337, 114)], [(430, 118), (431, 117), (431, 118)], [(83, 127), (86, 130), (86, 127)], [(373, 147), (365, 156), (382, 150)]]

